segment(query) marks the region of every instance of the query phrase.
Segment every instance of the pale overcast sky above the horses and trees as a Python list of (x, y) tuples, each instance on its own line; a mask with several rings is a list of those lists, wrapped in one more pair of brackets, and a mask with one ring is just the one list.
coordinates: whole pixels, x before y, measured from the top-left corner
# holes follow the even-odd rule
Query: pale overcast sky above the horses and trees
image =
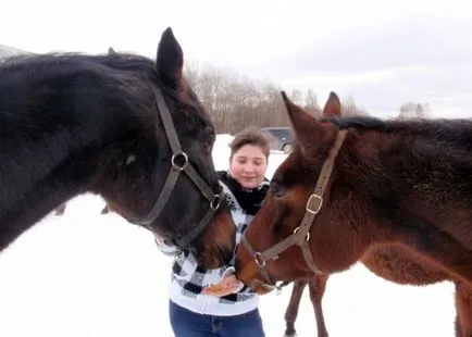
[(0, 43), (154, 58), (171, 26), (186, 60), (288, 91), (312, 88), (320, 103), (334, 90), (378, 116), (414, 100), (433, 116), (472, 117), (472, 2), (107, 2), (3, 0)]

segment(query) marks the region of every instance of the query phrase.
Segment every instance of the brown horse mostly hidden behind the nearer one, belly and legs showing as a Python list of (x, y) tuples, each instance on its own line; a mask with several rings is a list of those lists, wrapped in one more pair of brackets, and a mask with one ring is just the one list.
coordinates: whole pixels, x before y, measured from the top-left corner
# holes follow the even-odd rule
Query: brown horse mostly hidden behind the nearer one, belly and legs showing
[[(341, 107), (336, 93), (332, 92), (324, 109), (324, 116), (340, 116)], [(401, 285), (430, 285), (452, 280), (447, 272), (432, 264), (421, 255), (414, 254), (400, 245), (375, 246), (365, 253), (361, 262), (375, 275)], [(318, 336), (328, 336), (324, 323), (322, 299), (327, 274), (315, 274), (312, 278), (294, 282), (290, 300), (285, 312), (285, 336), (296, 335), (295, 321), (305, 288), (309, 287), (310, 299), (316, 319)], [(456, 336), (472, 334), (472, 288), (468, 284), (456, 284)]]

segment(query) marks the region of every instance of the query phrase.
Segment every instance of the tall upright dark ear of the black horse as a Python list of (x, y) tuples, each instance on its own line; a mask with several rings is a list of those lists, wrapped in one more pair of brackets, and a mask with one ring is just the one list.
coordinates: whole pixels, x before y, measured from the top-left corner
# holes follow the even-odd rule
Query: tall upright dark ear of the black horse
[(181, 84), (183, 66), (184, 53), (171, 27), (169, 27), (162, 33), (158, 47), (157, 67), (159, 77), (165, 85), (177, 88)]

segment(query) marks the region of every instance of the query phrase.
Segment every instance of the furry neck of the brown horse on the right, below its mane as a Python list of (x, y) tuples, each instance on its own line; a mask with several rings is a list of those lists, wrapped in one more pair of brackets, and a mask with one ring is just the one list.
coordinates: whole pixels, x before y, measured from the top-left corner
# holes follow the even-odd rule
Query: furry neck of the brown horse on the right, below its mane
[[(455, 182), (446, 178), (454, 171), (447, 170), (458, 165), (467, 171), (471, 164), (461, 155), (450, 155), (456, 153), (452, 150), (432, 151), (427, 147), (434, 147), (434, 139), (412, 143), (408, 137), (384, 135), (369, 141), (368, 137), (359, 136), (351, 145), (350, 162), (344, 165), (349, 168), (343, 172), (360, 209), (349, 207), (346, 212), (360, 211), (368, 220), (362, 236), (373, 240), (370, 245), (405, 245), (440, 264), (457, 279), (472, 282), (472, 236), (468, 235), (471, 185), (465, 175), (455, 175)], [(368, 150), (365, 143), (375, 143), (377, 150)], [(451, 142), (449, 146), (456, 147)], [(388, 150), (393, 148), (397, 150)]]

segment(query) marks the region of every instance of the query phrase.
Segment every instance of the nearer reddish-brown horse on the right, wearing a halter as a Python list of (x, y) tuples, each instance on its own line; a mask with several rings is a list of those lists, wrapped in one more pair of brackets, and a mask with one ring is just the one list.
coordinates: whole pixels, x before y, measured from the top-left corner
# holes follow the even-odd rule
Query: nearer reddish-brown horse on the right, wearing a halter
[[(283, 97), (297, 146), (238, 247), (237, 276), (265, 294), (276, 280), (340, 272), (398, 245), (462, 291), (472, 280), (472, 122), (316, 121)], [(463, 326), (467, 288), (457, 294)]]

